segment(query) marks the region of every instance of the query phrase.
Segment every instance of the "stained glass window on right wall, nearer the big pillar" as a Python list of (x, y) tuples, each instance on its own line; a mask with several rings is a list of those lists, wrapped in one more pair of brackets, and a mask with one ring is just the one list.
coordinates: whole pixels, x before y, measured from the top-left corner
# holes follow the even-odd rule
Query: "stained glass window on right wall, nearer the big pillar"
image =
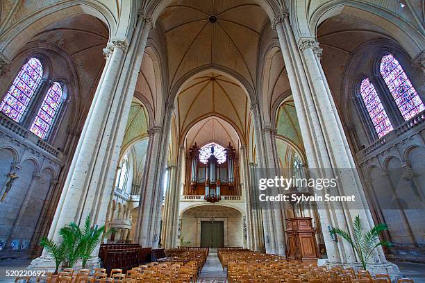
[(388, 132), (393, 130), (392, 124), (369, 78), (362, 80), (360, 94), (365, 102), (367, 112), (369, 112), (370, 119), (372, 119), (378, 137), (387, 135)]

